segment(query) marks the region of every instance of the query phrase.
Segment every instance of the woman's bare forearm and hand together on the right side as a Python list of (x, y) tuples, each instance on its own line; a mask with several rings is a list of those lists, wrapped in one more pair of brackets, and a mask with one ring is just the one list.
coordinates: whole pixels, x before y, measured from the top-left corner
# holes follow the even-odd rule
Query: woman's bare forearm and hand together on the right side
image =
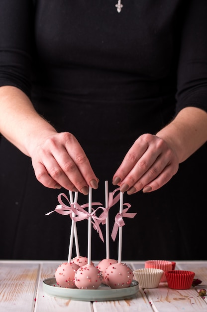
[(113, 184), (133, 194), (166, 184), (185, 161), (207, 142), (207, 112), (185, 107), (156, 136), (144, 134), (132, 145), (113, 176)]

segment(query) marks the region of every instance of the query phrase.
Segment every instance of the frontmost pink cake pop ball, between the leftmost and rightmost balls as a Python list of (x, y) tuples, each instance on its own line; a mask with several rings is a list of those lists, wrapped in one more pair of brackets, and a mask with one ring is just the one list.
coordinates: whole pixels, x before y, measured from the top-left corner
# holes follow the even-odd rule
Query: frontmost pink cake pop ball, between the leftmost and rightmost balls
[(95, 266), (86, 264), (76, 271), (75, 285), (79, 289), (97, 289), (102, 278), (102, 273)]

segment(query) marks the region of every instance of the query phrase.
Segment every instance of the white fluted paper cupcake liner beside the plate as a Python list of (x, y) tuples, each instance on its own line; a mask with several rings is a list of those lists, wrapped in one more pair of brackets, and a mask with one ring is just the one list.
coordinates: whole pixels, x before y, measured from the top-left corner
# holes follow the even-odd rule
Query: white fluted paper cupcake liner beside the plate
[(133, 271), (135, 280), (141, 288), (157, 288), (164, 274), (163, 270), (144, 268)]

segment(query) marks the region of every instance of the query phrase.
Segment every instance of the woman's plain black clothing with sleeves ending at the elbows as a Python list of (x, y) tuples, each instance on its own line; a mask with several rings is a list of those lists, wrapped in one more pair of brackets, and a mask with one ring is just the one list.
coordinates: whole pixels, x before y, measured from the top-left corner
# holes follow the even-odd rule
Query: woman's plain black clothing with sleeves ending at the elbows
[[(120, 13), (116, 3), (0, 0), (0, 86), (20, 88), (58, 131), (72, 132), (101, 182), (139, 135), (156, 133), (184, 107), (207, 110), (207, 1), (122, 0)], [(66, 258), (68, 222), (44, 217), (59, 190), (40, 185), (25, 159), (1, 138), (0, 228), (8, 245), (2, 236), (0, 258)], [(202, 257), (190, 222), (205, 222), (193, 211), (205, 207), (206, 159), (202, 148), (162, 189), (126, 199), (138, 214), (126, 220), (124, 259)], [(103, 187), (93, 196), (103, 201)], [(131, 237), (136, 246), (128, 246)], [(92, 257), (103, 258), (100, 240), (94, 245)]]

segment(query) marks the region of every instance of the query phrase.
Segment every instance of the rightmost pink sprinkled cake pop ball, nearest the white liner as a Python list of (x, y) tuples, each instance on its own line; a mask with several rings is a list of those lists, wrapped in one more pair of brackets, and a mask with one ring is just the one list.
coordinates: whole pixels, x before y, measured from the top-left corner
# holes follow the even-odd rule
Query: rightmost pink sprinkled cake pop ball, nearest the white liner
[(104, 279), (110, 288), (127, 288), (133, 280), (133, 272), (126, 264), (115, 263), (107, 267)]

